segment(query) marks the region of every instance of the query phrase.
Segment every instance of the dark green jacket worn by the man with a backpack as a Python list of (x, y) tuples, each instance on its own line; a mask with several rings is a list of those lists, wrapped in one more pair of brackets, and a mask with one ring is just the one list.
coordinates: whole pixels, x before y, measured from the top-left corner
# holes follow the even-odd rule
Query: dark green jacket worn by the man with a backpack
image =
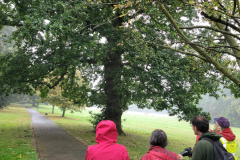
[[(222, 135), (216, 134), (215, 132), (207, 132), (203, 133), (200, 137), (208, 137), (212, 140), (219, 140)], [(199, 140), (192, 152), (192, 159), (191, 160), (213, 160), (214, 159), (214, 152), (213, 152), (213, 144), (207, 140)]]

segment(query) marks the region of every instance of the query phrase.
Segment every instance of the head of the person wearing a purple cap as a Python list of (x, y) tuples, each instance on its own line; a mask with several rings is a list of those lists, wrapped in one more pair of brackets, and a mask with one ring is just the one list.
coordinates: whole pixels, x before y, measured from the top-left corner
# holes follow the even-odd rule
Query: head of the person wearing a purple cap
[(225, 117), (214, 118), (214, 129), (215, 132), (222, 132), (225, 128), (230, 127), (230, 122)]

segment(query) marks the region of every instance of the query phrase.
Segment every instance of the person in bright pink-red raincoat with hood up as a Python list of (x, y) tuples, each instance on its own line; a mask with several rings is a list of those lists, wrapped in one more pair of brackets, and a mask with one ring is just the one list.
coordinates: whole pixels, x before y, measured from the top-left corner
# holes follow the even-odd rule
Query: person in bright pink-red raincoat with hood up
[(116, 124), (110, 120), (101, 121), (96, 128), (96, 145), (89, 146), (85, 160), (129, 160), (125, 146), (117, 144)]

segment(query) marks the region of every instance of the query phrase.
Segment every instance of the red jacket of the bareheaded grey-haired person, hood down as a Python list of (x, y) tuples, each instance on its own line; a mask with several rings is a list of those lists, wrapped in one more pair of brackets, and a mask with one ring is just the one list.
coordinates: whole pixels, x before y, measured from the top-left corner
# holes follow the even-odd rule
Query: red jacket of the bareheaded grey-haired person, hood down
[(154, 146), (140, 160), (177, 160), (177, 154), (165, 148)]

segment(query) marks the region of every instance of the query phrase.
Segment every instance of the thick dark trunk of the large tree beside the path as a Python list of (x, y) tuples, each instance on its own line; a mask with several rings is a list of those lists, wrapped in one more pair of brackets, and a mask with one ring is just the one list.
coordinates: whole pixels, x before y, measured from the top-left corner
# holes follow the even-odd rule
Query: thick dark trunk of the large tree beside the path
[[(120, 12), (116, 12), (116, 16), (119, 17)], [(121, 117), (123, 113), (122, 106), (122, 93), (120, 89), (121, 75), (122, 75), (122, 46), (118, 45), (118, 41), (123, 38), (122, 31), (117, 30), (119, 26), (122, 26), (123, 18), (116, 18), (112, 22), (114, 29), (109, 32), (99, 30), (99, 32), (107, 38), (108, 43), (108, 57), (104, 61), (104, 91), (106, 94), (105, 104), (106, 108), (103, 111), (105, 120), (112, 120), (115, 122), (118, 134), (124, 134), (122, 130)]]

